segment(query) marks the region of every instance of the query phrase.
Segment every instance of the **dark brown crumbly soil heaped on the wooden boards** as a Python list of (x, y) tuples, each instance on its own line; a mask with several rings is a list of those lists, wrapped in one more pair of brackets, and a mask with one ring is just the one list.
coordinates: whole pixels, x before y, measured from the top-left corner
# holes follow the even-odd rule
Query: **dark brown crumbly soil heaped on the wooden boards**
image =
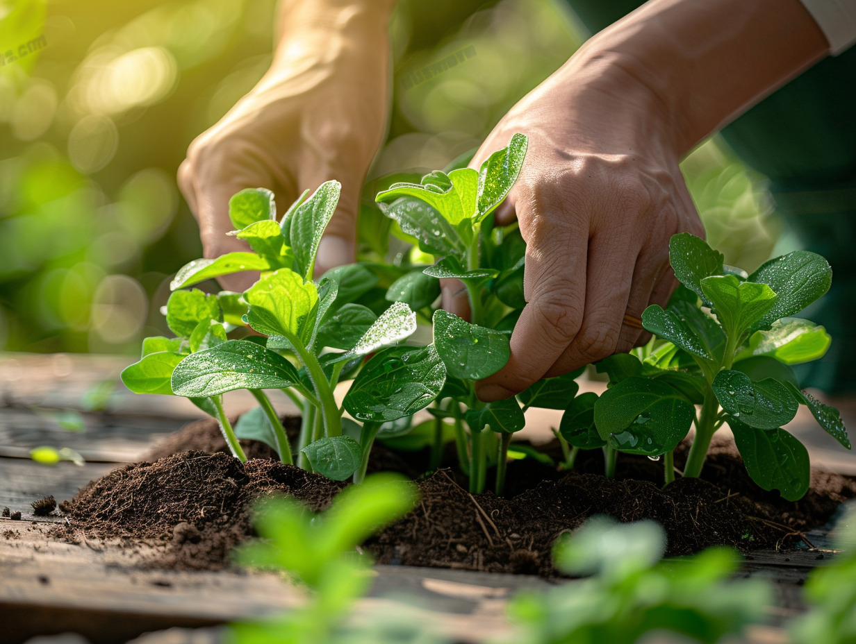
[[(289, 428), (289, 433), (294, 431)], [(113, 470), (63, 503), (68, 524), (59, 528), (62, 534), (69, 539), (82, 534), (89, 539), (144, 540), (158, 546), (157, 556), (149, 560), (152, 566), (217, 570), (229, 564), (232, 547), (253, 535), (253, 499), (292, 494), (318, 511), (345, 487), (270, 458), (254, 458), (242, 465), (223, 452), (211, 454), (225, 448), (213, 422), (193, 423), (180, 434), (170, 437), (167, 449), (152, 456), (181, 445), (194, 451)], [(199, 450), (200, 445), (205, 451)], [(253, 452), (259, 446), (247, 447), (259, 455)], [(551, 452), (557, 446), (544, 450)], [(686, 446), (676, 450), (679, 470), (686, 452)], [(372, 455), (372, 470), (404, 470), (413, 476), (425, 467), (421, 453), (410, 455), (413, 464), (383, 446), (377, 446)], [(372, 537), (365, 547), (383, 564), (551, 576), (556, 574), (550, 561), (556, 538), (592, 515), (663, 523), (669, 555), (715, 544), (748, 552), (794, 547), (805, 530), (822, 525), (837, 505), (856, 496), (853, 478), (814, 471), (811, 491), (800, 501), (788, 502), (778, 493), (759, 489), (734, 446), (724, 443), (711, 449), (704, 478), (679, 477), (664, 489), (662, 464), (620, 455), (620, 477), (609, 481), (602, 476), (599, 456), (599, 451), (582, 452), (576, 469), (569, 473), (532, 459), (515, 461), (508, 466), (512, 486), (507, 498), (489, 492), (471, 495), (452, 470), (437, 470), (417, 482), (418, 507)]]

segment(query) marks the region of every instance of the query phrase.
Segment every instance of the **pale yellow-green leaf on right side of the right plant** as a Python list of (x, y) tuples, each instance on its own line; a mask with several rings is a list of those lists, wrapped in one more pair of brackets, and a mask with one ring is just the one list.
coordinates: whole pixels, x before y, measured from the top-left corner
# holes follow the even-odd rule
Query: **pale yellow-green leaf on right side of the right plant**
[(796, 317), (773, 322), (769, 331), (752, 334), (747, 346), (735, 358), (770, 356), (785, 364), (801, 364), (826, 354), (832, 339), (826, 329)]

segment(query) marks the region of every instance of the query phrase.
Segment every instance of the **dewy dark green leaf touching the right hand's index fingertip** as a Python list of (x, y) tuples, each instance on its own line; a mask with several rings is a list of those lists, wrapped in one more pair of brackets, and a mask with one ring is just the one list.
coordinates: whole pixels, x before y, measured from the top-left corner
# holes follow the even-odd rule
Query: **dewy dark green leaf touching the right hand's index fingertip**
[(455, 378), (480, 380), (508, 362), (508, 334), (479, 327), (443, 309), (434, 312), (434, 345)]

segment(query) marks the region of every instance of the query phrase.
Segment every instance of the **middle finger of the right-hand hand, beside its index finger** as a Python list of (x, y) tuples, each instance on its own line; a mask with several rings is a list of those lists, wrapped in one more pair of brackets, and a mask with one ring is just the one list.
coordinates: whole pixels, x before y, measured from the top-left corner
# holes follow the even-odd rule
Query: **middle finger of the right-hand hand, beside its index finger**
[(545, 369), (545, 377), (567, 374), (615, 352), (639, 252), (634, 243), (632, 235), (621, 227), (604, 227), (592, 235), (580, 330), (550, 369)]

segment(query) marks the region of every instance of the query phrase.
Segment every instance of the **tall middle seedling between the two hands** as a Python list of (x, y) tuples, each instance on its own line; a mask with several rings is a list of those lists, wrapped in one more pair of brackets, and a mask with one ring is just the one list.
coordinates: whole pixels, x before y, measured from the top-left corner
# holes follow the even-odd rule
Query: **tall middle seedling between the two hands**
[(516, 399), (485, 405), (475, 395), (475, 381), (508, 362), (508, 336), (526, 305), (526, 242), (516, 224), (495, 227), (492, 216), (520, 174), (526, 145), (526, 136), (515, 134), (508, 147), (494, 152), (478, 171), (438, 170), (419, 183), (395, 183), (377, 194), (401, 234), (423, 254), (437, 257), (433, 265), (413, 269), (397, 281), (388, 297), (421, 309), (437, 298), (438, 279), (460, 280), (467, 289), (469, 321), (444, 310), (431, 316), (434, 346), (447, 373), (438, 397), (443, 404), (431, 411), (437, 416), (437, 441), (443, 419), (454, 422), (461, 468), (470, 477), (473, 493), (484, 490), (489, 460), (496, 460), (496, 493), (502, 493), (508, 446), (512, 434), (526, 423), (524, 411), (565, 409), (578, 388), (574, 377), (579, 372), (539, 381)]

